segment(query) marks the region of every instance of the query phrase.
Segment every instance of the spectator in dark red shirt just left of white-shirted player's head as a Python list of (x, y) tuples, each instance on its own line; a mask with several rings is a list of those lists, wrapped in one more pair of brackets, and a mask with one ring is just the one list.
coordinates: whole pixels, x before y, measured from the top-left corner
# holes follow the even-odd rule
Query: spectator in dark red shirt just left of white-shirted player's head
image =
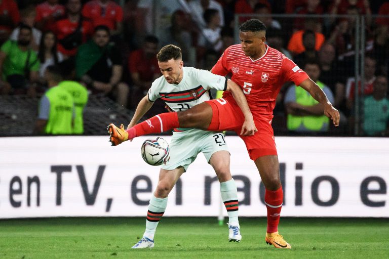
[(142, 48), (133, 51), (128, 57), (128, 69), (133, 83), (131, 87), (131, 106), (138, 104), (147, 94), (151, 82), (160, 77), (157, 53), (158, 38), (148, 35), (144, 38)]

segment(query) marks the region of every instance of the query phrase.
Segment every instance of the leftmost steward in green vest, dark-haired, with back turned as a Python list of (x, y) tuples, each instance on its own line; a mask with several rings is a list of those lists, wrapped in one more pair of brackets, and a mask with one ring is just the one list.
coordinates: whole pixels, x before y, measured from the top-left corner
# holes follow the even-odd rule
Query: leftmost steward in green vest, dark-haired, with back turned
[(42, 96), (35, 134), (69, 135), (73, 133), (74, 103), (73, 97), (58, 86), (62, 81), (61, 72), (56, 66), (48, 66), (45, 72), (49, 90)]

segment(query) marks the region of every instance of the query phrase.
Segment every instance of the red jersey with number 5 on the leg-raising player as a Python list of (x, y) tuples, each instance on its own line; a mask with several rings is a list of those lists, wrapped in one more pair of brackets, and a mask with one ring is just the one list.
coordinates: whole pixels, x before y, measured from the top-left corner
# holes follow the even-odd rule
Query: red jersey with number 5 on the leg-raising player
[[(231, 80), (243, 89), (251, 112), (263, 115), (273, 115), (277, 95), (285, 82), (299, 85), (309, 78), (293, 61), (268, 46), (262, 57), (251, 60), (240, 44), (232, 45), (211, 71), (223, 76), (231, 73)], [(232, 98), (231, 93), (224, 92), (223, 98)]]

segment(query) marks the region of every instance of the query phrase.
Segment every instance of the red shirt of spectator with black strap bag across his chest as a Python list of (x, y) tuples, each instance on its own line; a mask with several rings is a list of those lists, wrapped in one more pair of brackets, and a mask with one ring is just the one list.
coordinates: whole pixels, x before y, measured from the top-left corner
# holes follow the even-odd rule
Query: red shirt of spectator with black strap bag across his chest
[[(57, 35), (58, 41), (74, 32), (78, 25), (79, 22), (71, 22), (68, 18), (57, 21), (55, 23), (55, 34)], [(84, 43), (93, 33), (93, 26), (90, 20), (83, 18), (81, 31), (83, 33), (82, 42)], [(68, 57), (74, 56), (77, 53), (77, 48), (66, 50), (59, 42), (57, 48), (59, 52)]]

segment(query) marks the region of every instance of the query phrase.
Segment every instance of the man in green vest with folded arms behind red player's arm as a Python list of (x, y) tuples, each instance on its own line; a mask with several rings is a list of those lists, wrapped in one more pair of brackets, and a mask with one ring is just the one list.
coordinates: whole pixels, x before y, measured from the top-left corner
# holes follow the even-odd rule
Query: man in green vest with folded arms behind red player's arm
[[(316, 82), (326, 94), (328, 100), (333, 103), (334, 96), (331, 90), (318, 80), (320, 76), (320, 65), (316, 61), (307, 61), (304, 71), (310, 79)], [(327, 132), (329, 130), (329, 119), (323, 115), (323, 105), (318, 103), (301, 87), (291, 85), (286, 92), (285, 108), (287, 113), (287, 128), (292, 132)]]

